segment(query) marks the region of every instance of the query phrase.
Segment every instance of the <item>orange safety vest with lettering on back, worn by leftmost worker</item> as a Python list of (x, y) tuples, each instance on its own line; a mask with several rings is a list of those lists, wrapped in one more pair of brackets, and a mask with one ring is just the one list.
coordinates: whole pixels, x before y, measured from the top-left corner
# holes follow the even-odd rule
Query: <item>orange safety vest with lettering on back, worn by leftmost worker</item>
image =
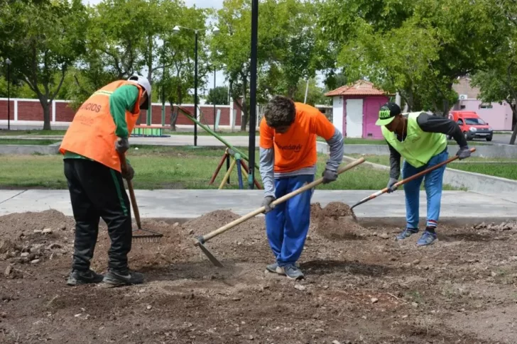
[(75, 113), (59, 148), (61, 154), (74, 152), (121, 172), (119, 155), (115, 150), (118, 138), (115, 135), (116, 125), (109, 111), (109, 96), (127, 84), (138, 87), (135, 107), (133, 111), (126, 111), (127, 129), (131, 135), (140, 115), (142, 88), (125, 80), (111, 82), (94, 92)]

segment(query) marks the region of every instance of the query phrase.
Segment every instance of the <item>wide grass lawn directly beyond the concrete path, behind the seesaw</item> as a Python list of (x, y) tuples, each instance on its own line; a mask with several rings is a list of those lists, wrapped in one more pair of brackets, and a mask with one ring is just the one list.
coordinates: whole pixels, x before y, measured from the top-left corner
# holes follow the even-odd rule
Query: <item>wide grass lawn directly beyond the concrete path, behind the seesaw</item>
[[(133, 181), (137, 189), (217, 189), (226, 167), (219, 172), (212, 186), (208, 182), (223, 154), (222, 148), (146, 145), (133, 146), (127, 156), (135, 170)], [(326, 161), (325, 155), (319, 156), (317, 177), (325, 169)], [(261, 182), (258, 171), (256, 178)], [(232, 184), (225, 186), (225, 189), (238, 189), (236, 170), (232, 172), (230, 180)], [(359, 165), (341, 174), (336, 182), (321, 184), (318, 189), (379, 190), (386, 187), (387, 180), (387, 172)], [(246, 184), (246, 181), (243, 182)], [(61, 155), (3, 155), (0, 188), (7, 187), (66, 189)]]

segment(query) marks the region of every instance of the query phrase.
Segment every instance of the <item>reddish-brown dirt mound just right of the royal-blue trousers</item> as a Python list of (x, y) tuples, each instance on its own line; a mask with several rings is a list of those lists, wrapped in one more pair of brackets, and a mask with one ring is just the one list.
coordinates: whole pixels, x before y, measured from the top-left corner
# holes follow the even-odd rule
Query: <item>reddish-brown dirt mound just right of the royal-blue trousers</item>
[(311, 204), (310, 215), (317, 233), (330, 240), (353, 240), (364, 231), (352, 209), (341, 202), (331, 202), (325, 208), (319, 203)]

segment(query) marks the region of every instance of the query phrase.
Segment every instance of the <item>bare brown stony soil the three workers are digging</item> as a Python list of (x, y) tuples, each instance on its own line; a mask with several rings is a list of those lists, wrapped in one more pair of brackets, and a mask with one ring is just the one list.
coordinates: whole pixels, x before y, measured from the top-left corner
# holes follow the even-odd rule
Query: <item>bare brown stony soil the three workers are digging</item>
[[(312, 206), (300, 259), (305, 280), (265, 272), (273, 256), (263, 218), (193, 245), (238, 218), (208, 213), (134, 243), (146, 284), (68, 287), (74, 221), (57, 211), (0, 217), (0, 343), (517, 343), (517, 225), (439, 229), (394, 240), (362, 228), (347, 206)], [(102, 228), (92, 267), (107, 267)]]

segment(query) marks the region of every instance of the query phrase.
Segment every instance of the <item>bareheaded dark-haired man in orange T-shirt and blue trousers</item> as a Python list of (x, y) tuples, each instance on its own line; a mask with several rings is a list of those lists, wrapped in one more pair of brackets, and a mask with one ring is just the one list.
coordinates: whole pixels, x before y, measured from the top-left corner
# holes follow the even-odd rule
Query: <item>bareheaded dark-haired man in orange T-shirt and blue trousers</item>
[(343, 160), (343, 135), (317, 109), (275, 96), (266, 105), (260, 124), (260, 172), (264, 186), (266, 233), (276, 261), (270, 272), (290, 279), (303, 278), (296, 262), (305, 245), (313, 189), (272, 206), (271, 202), (314, 181), (317, 168), (316, 137), (330, 146), (323, 183), (337, 179)]

